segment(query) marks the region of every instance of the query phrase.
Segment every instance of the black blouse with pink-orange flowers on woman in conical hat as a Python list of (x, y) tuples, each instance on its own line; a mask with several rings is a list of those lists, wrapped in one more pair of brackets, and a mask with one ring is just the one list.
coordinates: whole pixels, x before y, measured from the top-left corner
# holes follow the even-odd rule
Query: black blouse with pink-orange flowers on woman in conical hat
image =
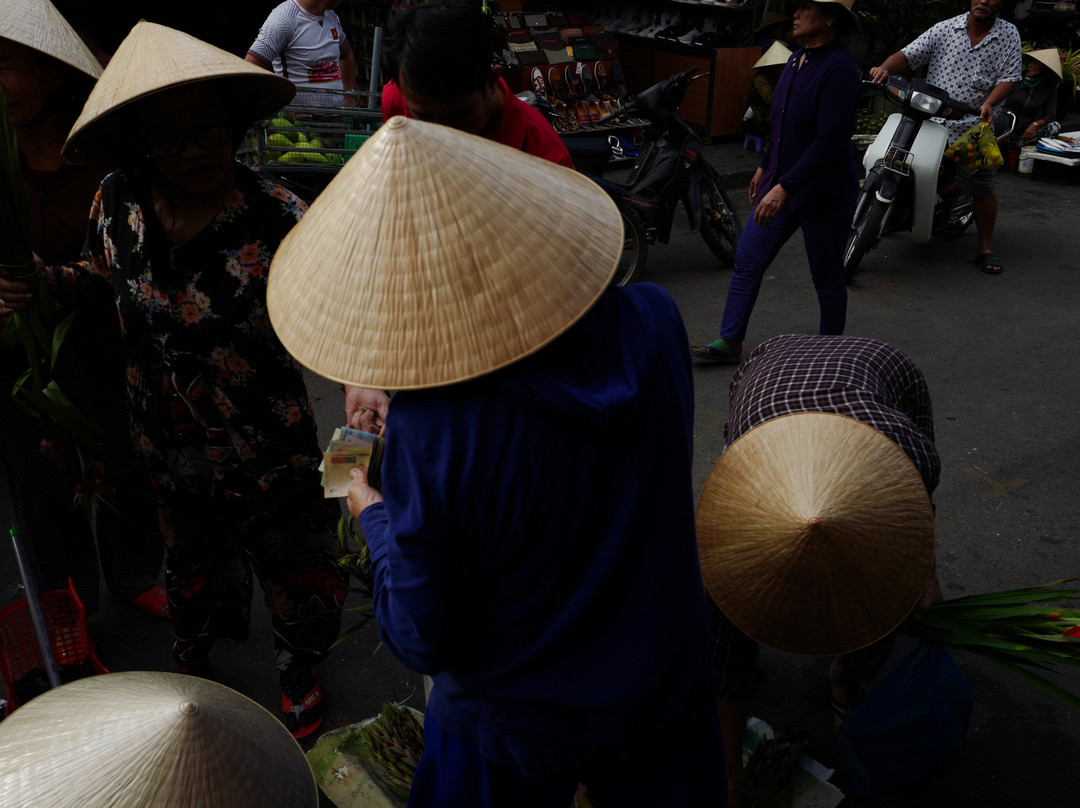
[(64, 286), (109, 291), (116, 300), (135, 446), (159, 501), (224, 490), (265, 510), (319, 479), (300, 366), (266, 305), (270, 261), (306, 205), (238, 165), (217, 216), (173, 245), (150, 199), (145, 183), (124, 172), (103, 180), (84, 260), (63, 269)]

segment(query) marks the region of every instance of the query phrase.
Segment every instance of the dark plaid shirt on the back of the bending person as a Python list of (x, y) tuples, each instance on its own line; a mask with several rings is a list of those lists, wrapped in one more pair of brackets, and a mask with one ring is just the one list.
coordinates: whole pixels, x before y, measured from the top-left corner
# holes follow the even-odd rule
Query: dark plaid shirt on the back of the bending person
[(918, 366), (877, 339), (773, 337), (758, 346), (731, 379), (728, 444), (770, 418), (838, 413), (893, 440), (915, 463), (927, 491), (941, 476), (930, 391)]

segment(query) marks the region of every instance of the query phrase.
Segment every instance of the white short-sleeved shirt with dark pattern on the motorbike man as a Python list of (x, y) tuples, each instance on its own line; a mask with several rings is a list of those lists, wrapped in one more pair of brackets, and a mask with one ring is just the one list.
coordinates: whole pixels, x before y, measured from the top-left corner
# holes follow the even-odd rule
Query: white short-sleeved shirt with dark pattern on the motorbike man
[[(972, 46), (968, 13), (945, 19), (902, 49), (913, 69), (927, 68), (927, 81), (972, 107), (982, 106), (995, 86), (1020, 81), (1022, 76), (1020, 31), (998, 17), (986, 37)], [(1000, 105), (995, 108), (995, 112)], [(935, 119), (941, 120), (941, 119)], [(943, 121), (949, 143), (977, 122), (977, 116)]]

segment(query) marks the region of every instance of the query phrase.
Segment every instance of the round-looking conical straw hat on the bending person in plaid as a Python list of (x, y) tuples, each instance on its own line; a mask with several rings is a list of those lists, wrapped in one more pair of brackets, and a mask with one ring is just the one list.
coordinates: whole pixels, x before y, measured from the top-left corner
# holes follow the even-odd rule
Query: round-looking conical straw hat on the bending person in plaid
[(895, 443), (831, 413), (739, 437), (698, 502), (702, 576), (744, 634), (777, 650), (856, 650), (918, 602), (934, 555), (922, 479)]

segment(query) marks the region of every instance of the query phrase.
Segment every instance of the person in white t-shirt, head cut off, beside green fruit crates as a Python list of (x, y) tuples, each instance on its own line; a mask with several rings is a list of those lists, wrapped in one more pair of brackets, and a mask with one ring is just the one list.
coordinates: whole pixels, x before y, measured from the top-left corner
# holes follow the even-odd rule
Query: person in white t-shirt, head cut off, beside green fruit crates
[[(355, 90), (356, 58), (334, 9), (341, 0), (285, 0), (262, 23), (247, 49), (248, 62), (272, 69), (297, 86), (294, 104), (340, 106), (335, 93), (305, 90)], [(346, 97), (347, 106), (355, 100)]]

